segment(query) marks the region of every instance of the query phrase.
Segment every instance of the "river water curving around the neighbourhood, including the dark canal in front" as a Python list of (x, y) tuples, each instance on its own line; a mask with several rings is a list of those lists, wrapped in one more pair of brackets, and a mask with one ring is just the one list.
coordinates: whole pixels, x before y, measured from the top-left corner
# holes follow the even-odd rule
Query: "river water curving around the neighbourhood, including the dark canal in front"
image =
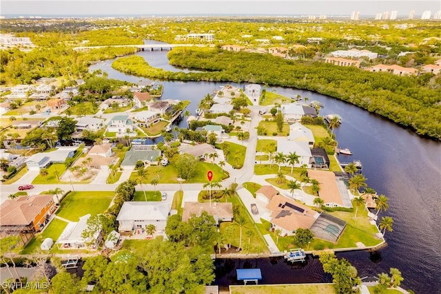
[[(167, 61), (167, 51), (139, 52), (154, 67), (178, 71)], [(114, 60), (97, 63), (90, 70), (107, 72), (110, 78), (136, 83), (145, 78), (113, 70)], [(218, 90), (225, 83), (169, 82), (164, 85), (163, 98), (189, 100), (187, 107), (194, 114), (203, 96)], [(234, 84), (234, 83), (232, 83)], [(321, 94), (291, 88), (273, 87), (285, 96), (300, 94), (309, 101), (320, 101), (320, 115), (339, 114), (340, 128), (336, 139), (342, 148), (348, 147), (352, 156), (340, 155), (339, 160), (359, 159), (369, 187), (389, 198), (389, 209), (379, 213), (391, 216), (393, 231), (387, 232), (387, 246), (369, 253), (352, 251), (338, 253), (356, 266), (360, 277), (373, 277), (396, 267), (402, 272), (403, 288), (416, 293), (441, 293), (441, 144), (420, 138), (398, 125), (375, 114)], [(440, 122), (441, 123), (441, 122)], [(186, 127), (185, 120), (178, 123)], [(309, 258), (305, 265), (290, 265), (280, 259), (216, 260), (215, 284), (241, 284), (235, 280), (235, 269), (259, 267), (263, 284), (330, 282), (320, 262)]]

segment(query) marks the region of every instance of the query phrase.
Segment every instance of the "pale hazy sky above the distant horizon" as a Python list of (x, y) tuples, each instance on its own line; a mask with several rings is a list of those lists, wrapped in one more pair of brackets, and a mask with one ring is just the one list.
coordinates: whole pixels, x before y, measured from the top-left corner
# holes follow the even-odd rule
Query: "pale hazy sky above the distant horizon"
[(397, 11), (398, 17), (420, 18), (424, 11), (441, 10), (441, 0), (285, 0), (285, 1), (133, 1), (133, 0), (2, 0), (1, 16), (161, 16), (161, 15), (336, 15), (350, 17), (358, 11), (360, 17), (376, 17), (377, 13)]

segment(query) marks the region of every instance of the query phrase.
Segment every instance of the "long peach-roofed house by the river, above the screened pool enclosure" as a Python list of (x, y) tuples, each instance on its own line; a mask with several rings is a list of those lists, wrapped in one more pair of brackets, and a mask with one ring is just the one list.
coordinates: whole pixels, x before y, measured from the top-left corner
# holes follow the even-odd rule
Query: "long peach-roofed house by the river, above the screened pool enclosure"
[(336, 178), (332, 171), (308, 169), (308, 177), (319, 182), (318, 196), (326, 207), (352, 207), (345, 182)]

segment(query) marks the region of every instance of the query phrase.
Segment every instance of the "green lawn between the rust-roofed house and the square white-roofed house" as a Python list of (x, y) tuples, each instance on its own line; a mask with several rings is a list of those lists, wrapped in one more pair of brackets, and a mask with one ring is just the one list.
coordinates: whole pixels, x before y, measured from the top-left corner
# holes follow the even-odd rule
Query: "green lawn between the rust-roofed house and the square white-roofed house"
[(113, 191), (79, 191), (70, 192), (61, 201), (57, 216), (78, 222), (81, 216), (90, 213), (92, 216), (103, 213), (110, 205)]

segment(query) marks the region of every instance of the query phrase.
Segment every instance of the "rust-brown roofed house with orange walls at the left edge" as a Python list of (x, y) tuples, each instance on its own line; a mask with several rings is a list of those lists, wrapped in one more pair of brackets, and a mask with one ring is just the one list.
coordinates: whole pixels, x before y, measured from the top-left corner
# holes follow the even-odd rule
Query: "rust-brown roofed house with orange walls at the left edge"
[(19, 235), (23, 245), (41, 231), (55, 211), (53, 195), (20, 196), (0, 206), (0, 238)]

